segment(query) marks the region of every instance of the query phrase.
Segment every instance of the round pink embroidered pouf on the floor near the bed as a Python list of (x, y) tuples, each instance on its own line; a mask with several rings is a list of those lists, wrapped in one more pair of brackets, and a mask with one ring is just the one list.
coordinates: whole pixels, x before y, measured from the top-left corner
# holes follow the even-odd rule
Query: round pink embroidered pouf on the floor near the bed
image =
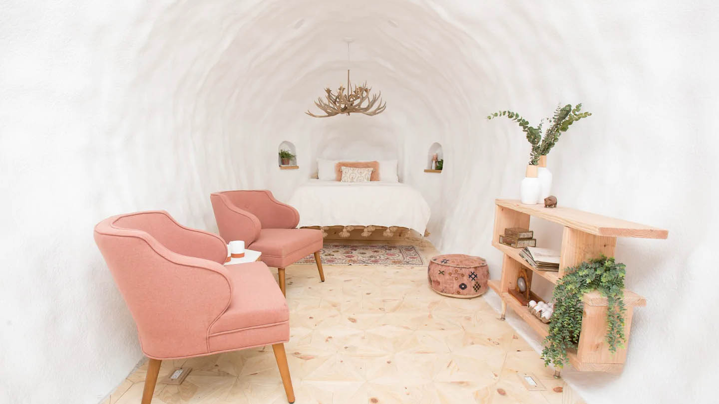
[(444, 254), (432, 257), (427, 267), (429, 286), (441, 295), (475, 298), (487, 291), (490, 273), (482, 257)]

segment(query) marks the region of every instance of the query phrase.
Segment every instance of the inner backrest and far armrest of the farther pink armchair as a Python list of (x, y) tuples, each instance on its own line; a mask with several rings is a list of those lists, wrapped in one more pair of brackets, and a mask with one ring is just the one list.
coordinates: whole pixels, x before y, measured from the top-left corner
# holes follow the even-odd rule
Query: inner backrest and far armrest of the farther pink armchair
[(269, 190), (229, 190), (221, 194), (237, 208), (257, 216), (262, 229), (294, 229), (300, 222), (297, 209), (275, 199)]

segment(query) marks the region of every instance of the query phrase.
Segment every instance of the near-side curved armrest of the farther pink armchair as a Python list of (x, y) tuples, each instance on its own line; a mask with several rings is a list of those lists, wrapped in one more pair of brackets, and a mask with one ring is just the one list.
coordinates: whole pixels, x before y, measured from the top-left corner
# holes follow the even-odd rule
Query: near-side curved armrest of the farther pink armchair
[(217, 229), (227, 242), (242, 240), (246, 246), (249, 246), (260, 237), (262, 224), (257, 216), (239, 208), (225, 193), (212, 193), (210, 201), (215, 212)]

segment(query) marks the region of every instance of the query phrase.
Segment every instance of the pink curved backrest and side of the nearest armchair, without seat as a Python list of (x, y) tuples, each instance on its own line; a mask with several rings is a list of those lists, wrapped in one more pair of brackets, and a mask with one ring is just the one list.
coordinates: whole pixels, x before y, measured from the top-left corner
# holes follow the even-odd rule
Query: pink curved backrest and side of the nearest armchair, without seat
[(95, 226), (94, 237), (137, 324), (142, 351), (155, 359), (209, 352), (210, 326), (232, 297), (219, 263), (224, 240), (181, 226), (165, 211), (112, 216)]

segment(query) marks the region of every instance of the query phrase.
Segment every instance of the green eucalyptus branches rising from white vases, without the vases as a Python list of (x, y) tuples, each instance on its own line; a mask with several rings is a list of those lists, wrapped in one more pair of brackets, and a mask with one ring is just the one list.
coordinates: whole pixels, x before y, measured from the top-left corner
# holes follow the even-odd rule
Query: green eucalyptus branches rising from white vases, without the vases
[(591, 115), (591, 112), (582, 112), (582, 104), (577, 104), (574, 108), (572, 108), (572, 104), (567, 104), (562, 107), (557, 106), (557, 109), (554, 110), (554, 115), (551, 116), (551, 118), (546, 118), (547, 121), (551, 122), (551, 125), (546, 129), (544, 134), (542, 134), (541, 130), (544, 119), (539, 121), (539, 125), (536, 127), (529, 126), (529, 121), (513, 111), (497, 111), (494, 114), (488, 115), (487, 119), (506, 116), (508, 119), (517, 122), (522, 128), (522, 132), (526, 134), (529, 144), (532, 146), (529, 164), (537, 165), (539, 157), (548, 155), (549, 150), (554, 147), (554, 144), (557, 144), (562, 132), (567, 132), (569, 126), (574, 124), (574, 122)]

